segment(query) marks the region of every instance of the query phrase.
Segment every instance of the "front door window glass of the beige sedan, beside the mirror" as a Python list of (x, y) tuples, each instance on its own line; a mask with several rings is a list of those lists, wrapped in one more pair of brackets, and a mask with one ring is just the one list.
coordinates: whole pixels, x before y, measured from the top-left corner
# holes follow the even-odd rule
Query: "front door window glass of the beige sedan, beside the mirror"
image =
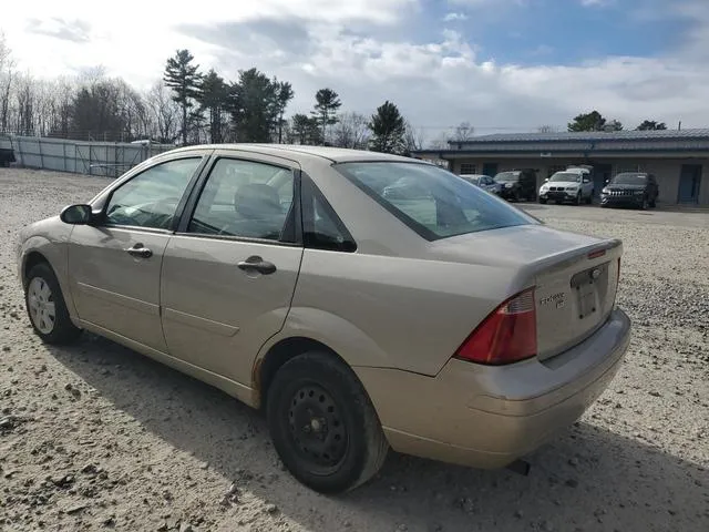
[(111, 195), (105, 222), (111, 225), (167, 229), (202, 158), (157, 164), (121, 185)]

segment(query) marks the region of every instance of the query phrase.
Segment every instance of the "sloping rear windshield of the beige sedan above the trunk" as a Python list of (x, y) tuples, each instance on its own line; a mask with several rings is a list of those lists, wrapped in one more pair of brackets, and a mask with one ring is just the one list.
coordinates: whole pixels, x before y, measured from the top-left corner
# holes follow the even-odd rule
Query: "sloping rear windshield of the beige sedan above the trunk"
[(369, 162), (335, 168), (429, 241), (538, 223), (438, 166)]

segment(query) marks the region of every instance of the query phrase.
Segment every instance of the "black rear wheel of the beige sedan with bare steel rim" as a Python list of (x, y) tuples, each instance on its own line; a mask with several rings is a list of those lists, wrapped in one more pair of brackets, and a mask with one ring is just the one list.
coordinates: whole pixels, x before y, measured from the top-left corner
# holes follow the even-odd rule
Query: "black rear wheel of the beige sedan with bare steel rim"
[(286, 362), (268, 388), (266, 415), (286, 468), (320, 493), (363, 484), (387, 458), (374, 407), (351, 369), (331, 355), (312, 351)]

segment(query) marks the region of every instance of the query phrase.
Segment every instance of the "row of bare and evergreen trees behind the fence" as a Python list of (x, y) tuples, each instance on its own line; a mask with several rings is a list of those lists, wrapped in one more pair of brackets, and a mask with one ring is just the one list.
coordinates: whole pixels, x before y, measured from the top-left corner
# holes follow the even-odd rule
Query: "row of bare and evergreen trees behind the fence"
[(165, 62), (162, 79), (141, 92), (100, 68), (75, 78), (34, 79), (14, 68), (0, 35), (0, 133), (169, 144), (275, 142), (333, 145), (407, 154), (423, 134), (390, 101), (372, 115), (343, 111), (339, 94), (322, 88), (308, 114), (288, 115), (291, 83), (257, 68), (227, 81), (203, 72), (188, 50)]

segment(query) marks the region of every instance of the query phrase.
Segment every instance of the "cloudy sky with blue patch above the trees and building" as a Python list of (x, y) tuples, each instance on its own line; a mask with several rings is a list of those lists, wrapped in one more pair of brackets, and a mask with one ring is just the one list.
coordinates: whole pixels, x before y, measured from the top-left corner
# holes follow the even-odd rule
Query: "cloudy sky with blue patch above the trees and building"
[(102, 65), (147, 89), (187, 48), (227, 80), (290, 81), (291, 113), (328, 86), (341, 110), (394, 102), (429, 139), (594, 109), (626, 129), (709, 126), (709, 0), (32, 0), (3, 7), (0, 31), (38, 78)]

